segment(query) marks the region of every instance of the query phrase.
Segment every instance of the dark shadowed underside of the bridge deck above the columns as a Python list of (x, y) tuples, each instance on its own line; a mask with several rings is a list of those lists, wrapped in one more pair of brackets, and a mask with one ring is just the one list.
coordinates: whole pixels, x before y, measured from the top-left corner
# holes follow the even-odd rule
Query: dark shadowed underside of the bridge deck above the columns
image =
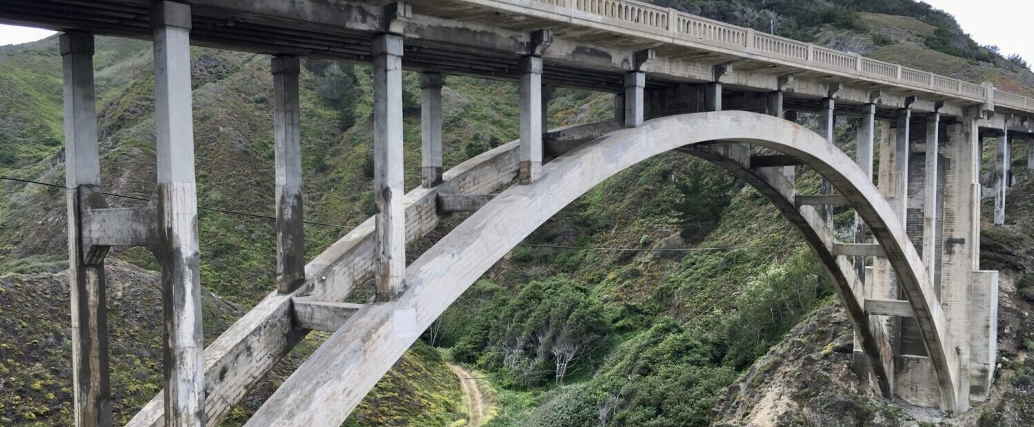
[[(368, 63), (372, 60), (372, 38), (383, 32), (384, 6), (390, 2), (277, 4), (269, 0), (196, 0), (190, 3), (191, 42), (196, 45)], [(821, 85), (839, 83), (900, 95), (915, 93), (890, 85), (831, 75), (803, 65), (798, 67), (717, 50), (664, 43), (649, 37), (500, 10), (479, 2), (412, 0), (408, 3), (413, 5), (414, 14), (421, 17), (406, 28), (403, 66), (414, 70), (514, 81), (519, 78), (518, 62), (526, 54), (527, 44), (526, 39), (516, 39), (514, 34), (526, 36), (535, 30), (550, 29), (555, 37), (579, 47), (564, 60), (545, 58), (543, 83), (554, 87), (621, 92), (630, 66), (619, 58), (608, 56), (614, 51), (599, 51), (600, 47), (605, 47), (621, 52), (652, 49), (668, 60), (697, 64), (701, 69), (709, 70), (716, 64), (734, 62), (737, 72), (794, 74)], [(149, 39), (150, 4), (149, 0), (0, 0), (0, 23)], [(464, 23), (479, 27), (460, 28)], [(414, 27), (420, 29), (413, 30)], [(460, 31), (452, 31), (457, 28)], [(489, 40), (491, 37), (485, 33), (491, 29), (509, 31), (509, 35), (496, 34)], [(410, 37), (410, 30), (416, 36)], [(577, 52), (579, 50), (583, 52)], [(709, 71), (682, 78), (651, 72), (647, 87), (711, 80)], [(736, 83), (727, 86), (744, 91), (770, 90)], [(788, 101), (801, 100), (799, 106), (802, 109), (821, 99), (813, 93), (793, 91), (787, 92), (786, 97)], [(926, 94), (926, 97), (931, 100), (943, 98), (936, 94)]]

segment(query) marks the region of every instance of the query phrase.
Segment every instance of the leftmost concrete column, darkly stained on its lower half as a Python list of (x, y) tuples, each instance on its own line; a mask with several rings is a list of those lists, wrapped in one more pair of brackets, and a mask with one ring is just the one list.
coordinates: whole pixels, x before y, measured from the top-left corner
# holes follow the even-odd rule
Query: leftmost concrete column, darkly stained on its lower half
[(61, 35), (64, 68), (65, 200), (71, 297), (72, 415), (77, 426), (112, 425), (108, 308), (103, 260), (88, 263), (82, 211), (102, 208), (100, 153), (93, 89), (93, 35)]

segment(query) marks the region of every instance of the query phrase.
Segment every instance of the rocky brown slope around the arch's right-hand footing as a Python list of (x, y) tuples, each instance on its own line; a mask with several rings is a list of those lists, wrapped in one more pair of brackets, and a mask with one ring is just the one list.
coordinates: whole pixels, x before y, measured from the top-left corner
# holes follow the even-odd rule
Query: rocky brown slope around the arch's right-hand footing
[[(984, 222), (981, 268), (999, 270), (998, 368), (991, 399), (965, 416), (891, 404), (859, 386), (850, 368), (851, 327), (831, 303), (794, 328), (730, 387), (713, 413), (716, 425), (865, 425), (917, 422), (946, 426), (1028, 426), (1034, 423), (1034, 179), (1008, 196), (1008, 221)], [(985, 217), (986, 217), (986, 211)], [(986, 219), (986, 218), (985, 218)]]

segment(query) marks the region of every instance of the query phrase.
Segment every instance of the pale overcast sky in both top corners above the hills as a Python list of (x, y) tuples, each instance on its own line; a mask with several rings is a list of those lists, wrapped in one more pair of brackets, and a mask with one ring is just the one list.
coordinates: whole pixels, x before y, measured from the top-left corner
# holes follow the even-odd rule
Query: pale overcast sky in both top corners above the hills
[[(955, 16), (963, 30), (980, 44), (996, 44), (1003, 55), (1020, 54), (1034, 63), (1034, 42), (1027, 33), (1034, 17), (1032, 0), (925, 0)], [(0, 25), (0, 45), (38, 40), (52, 31)]]

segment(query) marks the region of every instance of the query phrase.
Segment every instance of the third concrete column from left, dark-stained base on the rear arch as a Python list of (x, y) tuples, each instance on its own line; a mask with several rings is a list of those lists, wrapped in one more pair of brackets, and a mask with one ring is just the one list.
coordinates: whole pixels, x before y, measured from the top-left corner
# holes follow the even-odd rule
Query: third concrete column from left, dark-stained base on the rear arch
[(297, 57), (277, 56), (273, 71), (273, 131), (276, 135), (276, 288), (287, 294), (305, 281), (302, 209), (302, 132)]

